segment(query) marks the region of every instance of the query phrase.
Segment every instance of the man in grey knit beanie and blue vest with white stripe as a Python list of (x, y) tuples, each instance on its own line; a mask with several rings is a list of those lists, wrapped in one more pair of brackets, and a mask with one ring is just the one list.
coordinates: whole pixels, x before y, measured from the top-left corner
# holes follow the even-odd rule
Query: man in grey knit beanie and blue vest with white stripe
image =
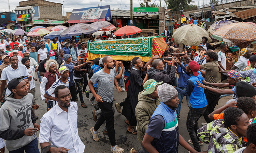
[(197, 153), (179, 134), (176, 108), (179, 104), (177, 90), (167, 83), (159, 85), (161, 100), (148, 124), (142, 146), (149, 153), (178, 152), (179, 143), (192, 153)]

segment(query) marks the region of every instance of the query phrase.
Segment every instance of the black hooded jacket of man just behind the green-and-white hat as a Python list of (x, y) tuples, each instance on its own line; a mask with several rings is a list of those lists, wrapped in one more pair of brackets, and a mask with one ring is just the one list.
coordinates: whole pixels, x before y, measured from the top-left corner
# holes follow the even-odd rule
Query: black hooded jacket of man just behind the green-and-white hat
[[(157, 70), (154, 67), (151, 67), (147, 71), (147, 75), (150, 79), (156, 80), (156, 82), (163, 82), (163, 83), (168, 83), (172, 84), (172, 81), (175, 79), (175, 71), (176, 68), (175, 66), (167, 66), (167, 71), (161, 71)], [(148, 79), (149, 79), (148, 78)]]

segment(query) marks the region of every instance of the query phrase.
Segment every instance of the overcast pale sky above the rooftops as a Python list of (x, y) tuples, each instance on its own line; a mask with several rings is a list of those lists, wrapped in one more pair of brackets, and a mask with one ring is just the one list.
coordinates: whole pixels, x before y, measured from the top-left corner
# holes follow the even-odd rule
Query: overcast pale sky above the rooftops
[[(14, 12), (14, 8), (19, 5), (19, 1), (23, 0), (10, 0), (10, 10), (11, 12)], [(56, 3), (62, 3), (63, 0), (48, 0)], [(155, 1), (156, 4), (159, 5), (159, 0), (151, 0), (151, 3)], [(199, 1), (199, 5), (201, 4), (201, 0), (194, 0), (197, 4)], [(206, 0), (205, 4), (206, 4)], [(210, 1), (210, 0), (208, 0)], [(75, 3), (74, 3), (75, 2)], [(140, 3), (143, 2), (143, 0), (133, 0), (133, 7), (139, 7)], [(164, 0), (161, 0), (161, 6), (163, 7)], [(95, 6), (100, 6), (100, 0), (64, 0), (64, 15), (65, 12), (72, 12), (73, 9), (77, 8), (86, 8), (86, 7), (95, 7)], [(117, 10), (122, 9), (122, 10), (129, 10), (130, 9), (130, 0), (102, 0), (101, 1), (102, 6), (103, 5), (111, 5), (110, 8), (111, 10)], [(32, 4), (31, 4), (32, 5)], [(203, 1), (202, 1), (203, 5)], [(166, 5), (165, 5), (166, 6)], [(0, 5), (0, 12), (5, 12), (9, 11), (8, 8), (8, 0), (1, 0), (1, 5)]]

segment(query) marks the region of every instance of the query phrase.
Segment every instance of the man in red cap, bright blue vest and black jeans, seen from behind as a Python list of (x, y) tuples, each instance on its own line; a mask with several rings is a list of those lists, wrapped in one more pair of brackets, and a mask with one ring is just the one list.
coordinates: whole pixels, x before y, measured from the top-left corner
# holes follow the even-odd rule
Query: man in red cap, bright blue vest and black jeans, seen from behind
[(198, 88), (196, 85), (197, 81), (202, 83), (203, 77), (199, 71), (199, 64), (195, 61), (190, 61), (186, 67), (187, 74), (190, 75), (190, 78), (187, 81), (187, 89), (182, 90), (176, 87), (176, 90), (184, 95), (190, 96), (191, 107), (187, 115), (187, 130), (191, 140), (188, 140), (189, 143), (194, 145), (196, 151), (201, 152), (199, 145), (202, 145), (203, 142), (200, 141), (196, 135), (196, 131), (199, 129), (197, 121), (207, 108), (207, 100), (204, 95), (203, 89)]

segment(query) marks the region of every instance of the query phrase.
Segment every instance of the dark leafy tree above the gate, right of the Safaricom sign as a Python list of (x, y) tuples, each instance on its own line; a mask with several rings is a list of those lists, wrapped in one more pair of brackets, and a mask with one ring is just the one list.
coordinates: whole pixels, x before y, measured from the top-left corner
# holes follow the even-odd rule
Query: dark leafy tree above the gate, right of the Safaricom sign
[(182, 11), (188, 8), (188, 4), (193, 2), (192, 0), (167, 0), (167, 8), (172, 11)]

